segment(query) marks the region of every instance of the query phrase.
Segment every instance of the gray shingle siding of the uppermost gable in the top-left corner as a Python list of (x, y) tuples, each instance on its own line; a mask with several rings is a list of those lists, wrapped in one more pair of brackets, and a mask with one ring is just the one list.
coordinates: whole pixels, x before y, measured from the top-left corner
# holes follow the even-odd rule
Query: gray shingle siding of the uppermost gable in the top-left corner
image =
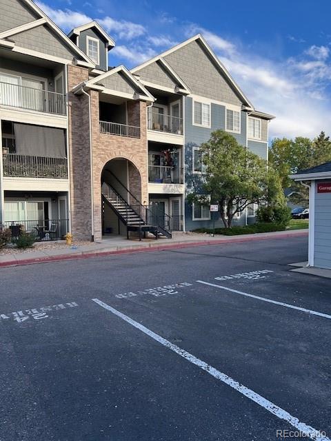
[(26, 8), (17, 0), (0, 0), (0, 10), (0, 32), (17, 28), (17, 26), (25, 25), (40, 18), (35, 12)]

